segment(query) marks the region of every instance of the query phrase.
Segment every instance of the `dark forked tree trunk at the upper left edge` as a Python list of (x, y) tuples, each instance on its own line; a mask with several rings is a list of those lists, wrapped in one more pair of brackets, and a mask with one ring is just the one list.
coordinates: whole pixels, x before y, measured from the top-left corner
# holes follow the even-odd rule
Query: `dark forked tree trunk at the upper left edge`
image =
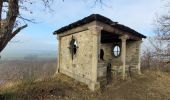
[[(3, 1), (0, 1), (0, 10), (2, 14), (2, 4)], [(14, 25), (16, 22), (16, 18), (19, 15), (19, 1), (18, 0), (8, 0), (8, 12), (6, 19), (1, 19), (1, 27), (0, 27), (0, 53), (9, 43), (9, 41), (19, 33), (23, 28), (27, 27), (24, 25), (22, 27), (17, 28), (14, 30)], [(0, 15), (1, 16), (1, 15)], [(0, 17), (1, 18), (1, 17)]]

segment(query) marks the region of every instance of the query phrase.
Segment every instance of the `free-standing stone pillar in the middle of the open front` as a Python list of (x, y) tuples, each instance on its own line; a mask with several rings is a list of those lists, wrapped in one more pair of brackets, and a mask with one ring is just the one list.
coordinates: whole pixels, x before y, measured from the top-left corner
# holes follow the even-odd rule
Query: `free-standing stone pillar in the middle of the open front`
[(122, 61), (122, 78), (125, 79), (126, 75), (126, 40), (128, 39), (127, 35), (120, 37), (122, 45), (121, 45), (121, 61)]

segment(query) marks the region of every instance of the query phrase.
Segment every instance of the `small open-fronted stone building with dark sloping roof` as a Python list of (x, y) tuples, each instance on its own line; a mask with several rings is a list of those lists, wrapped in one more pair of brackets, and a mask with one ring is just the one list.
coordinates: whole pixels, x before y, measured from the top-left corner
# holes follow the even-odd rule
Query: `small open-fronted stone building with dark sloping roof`
[(96, 90), (109, 75), (140, 74), (140, 45), (146, 36), (102, 15), (92, 14), (56, 30), (57, 72)]

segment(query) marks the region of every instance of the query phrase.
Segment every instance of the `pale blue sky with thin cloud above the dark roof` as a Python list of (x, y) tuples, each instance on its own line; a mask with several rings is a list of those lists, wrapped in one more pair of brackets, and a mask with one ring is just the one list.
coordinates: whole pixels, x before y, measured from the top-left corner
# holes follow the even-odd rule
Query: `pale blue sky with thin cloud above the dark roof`
[(154, 19), (165, 12), (165, 0), (104, 0), (104, 6), (94, 6), (92, 0), (54, 0), (53, 12), (40, 6), (39, 0), (29, 8), (33, 14), (22, 12), (27, 18), (34, 18), (37, 24), (28, 23), (4, 49), (2, 58), (23, 57), (29, 54), (56, 57), (57, 39), (52, 33), (90, 14), (101, 14), (120, 24), (129, 26), (146, 35), (153, 35)]

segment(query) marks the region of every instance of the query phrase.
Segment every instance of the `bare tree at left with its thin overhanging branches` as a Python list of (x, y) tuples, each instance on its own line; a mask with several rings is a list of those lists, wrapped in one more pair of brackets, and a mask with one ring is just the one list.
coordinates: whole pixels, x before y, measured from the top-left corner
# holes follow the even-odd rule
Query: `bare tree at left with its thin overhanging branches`
[[(32, 1), (33, 0), (0, 0), (0, 53), (13, 37), (27, 27), (27, 24), (21, 24), (19, 19), (32, 22), (32, 20), (23, 17), (20, 13), (21, 10), (31, 13), (32, 11), (29, 11), (25, 5), (32, 4)], [(50, 9), (51, 3), (55, 0), (41, 1), (45, 8)], [(103, 0), (94, 0), (94, 2), (103, 4)]]

